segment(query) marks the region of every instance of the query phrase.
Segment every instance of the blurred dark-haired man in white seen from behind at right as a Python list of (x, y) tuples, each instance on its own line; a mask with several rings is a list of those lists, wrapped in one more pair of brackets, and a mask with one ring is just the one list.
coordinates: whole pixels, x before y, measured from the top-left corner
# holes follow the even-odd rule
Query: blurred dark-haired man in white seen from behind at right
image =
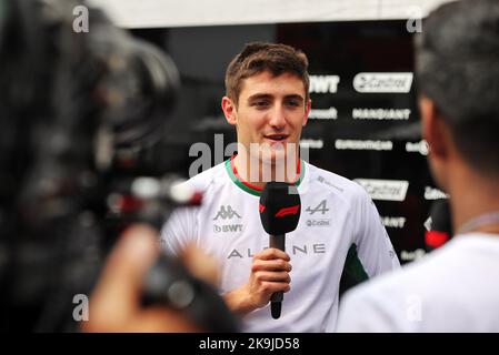
[(346, 295), (342, 332), (499, 332), (499, 2), (430, 13), (417, 41), (422, 132), (456, 236)]

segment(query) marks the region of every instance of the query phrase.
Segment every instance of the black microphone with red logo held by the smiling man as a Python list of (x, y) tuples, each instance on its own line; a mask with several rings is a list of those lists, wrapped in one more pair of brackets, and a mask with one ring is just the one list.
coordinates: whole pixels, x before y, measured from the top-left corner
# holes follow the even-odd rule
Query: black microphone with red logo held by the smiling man
[[(300, 220), (300, 195), (298, 189), (286, 182), (269, 182), (260, 196), (260, 220), (269, 233), (269, 246), (286, 251), (285, 235), (297, 229)], [(281, 315), (283, 292), (279, 291), (270, 297), (272, 318)]]

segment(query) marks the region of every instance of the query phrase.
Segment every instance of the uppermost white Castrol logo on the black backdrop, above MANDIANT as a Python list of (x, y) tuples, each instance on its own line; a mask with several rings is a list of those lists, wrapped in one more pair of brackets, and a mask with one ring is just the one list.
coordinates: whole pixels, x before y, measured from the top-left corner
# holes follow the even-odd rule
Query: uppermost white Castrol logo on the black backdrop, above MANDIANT
[(413, 74), (403, 73), (358, 73), (353, 78), (357, 92), (409, 92)]

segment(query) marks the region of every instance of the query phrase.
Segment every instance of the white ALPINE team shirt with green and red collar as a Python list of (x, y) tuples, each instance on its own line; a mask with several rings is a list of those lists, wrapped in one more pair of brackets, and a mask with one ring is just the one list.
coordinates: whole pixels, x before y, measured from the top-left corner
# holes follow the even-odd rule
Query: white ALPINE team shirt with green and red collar
[[(220, 262), (220, 293), (232, 291), (249, 280), (252, 255), (269, 245), (258, 211), (260, 191), (242, 182), (232, 160), (187, 184), (204, 193), (202, 204), (173, 212), (161, 242), (173, 253), (194, 242)], [(244, 317), (247, 332), (333, 332), (343, 267), (367, 278), (400, 266), (361, 186), (303, 161), (296, 184), (301, 215), (297, 229), (286, 235), (291, 290), (285, 293), (279, 320), (271, 317), (267, 305)]]

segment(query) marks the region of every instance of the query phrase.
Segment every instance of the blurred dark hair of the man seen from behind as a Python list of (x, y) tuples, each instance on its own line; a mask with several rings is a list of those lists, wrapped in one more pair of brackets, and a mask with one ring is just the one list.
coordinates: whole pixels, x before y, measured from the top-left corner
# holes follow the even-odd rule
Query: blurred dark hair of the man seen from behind
[(499, 173), (499, 1), (462, 0), (432, 11), (416, 37), (416, 75), (463, 159)]

